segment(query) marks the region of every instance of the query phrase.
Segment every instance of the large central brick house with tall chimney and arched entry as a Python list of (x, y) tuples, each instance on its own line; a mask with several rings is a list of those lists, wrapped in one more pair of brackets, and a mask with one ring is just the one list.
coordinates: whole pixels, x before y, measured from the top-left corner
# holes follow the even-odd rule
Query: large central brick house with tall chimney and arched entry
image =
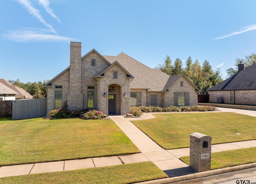
[(125, 53), (102, 56), (95, 49), (81, 57), (81, 43), (70, 42), (70, 66), (44, 85), (47, 110), (96, 109), (126, 115), (130, 106), (197, 105), (198, 88), (183, 74), (169, 76)]

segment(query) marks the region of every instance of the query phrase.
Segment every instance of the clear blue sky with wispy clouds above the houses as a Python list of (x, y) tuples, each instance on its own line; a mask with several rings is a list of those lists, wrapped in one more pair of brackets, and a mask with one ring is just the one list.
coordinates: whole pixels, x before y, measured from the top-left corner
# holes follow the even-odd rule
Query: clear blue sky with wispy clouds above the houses
[(166, 55), (212, 68), (256, 52), (255, 0), (1, 0), (0, 78), (52, 79), (82, 55), (124, 52), (154, 68)]

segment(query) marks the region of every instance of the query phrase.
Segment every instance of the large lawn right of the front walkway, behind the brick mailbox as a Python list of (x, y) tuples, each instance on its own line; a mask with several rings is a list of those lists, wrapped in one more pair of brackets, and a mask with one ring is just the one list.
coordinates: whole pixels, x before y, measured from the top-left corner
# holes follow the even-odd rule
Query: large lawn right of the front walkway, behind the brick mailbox
[[(164, 113), (132, 121), (164, 149), (186, 148), (190, 134), (212, 137), (212, 144), (256, 139), (256, 117), (237, 113)], [(236, 134), (241, 133), (241, 135)]]

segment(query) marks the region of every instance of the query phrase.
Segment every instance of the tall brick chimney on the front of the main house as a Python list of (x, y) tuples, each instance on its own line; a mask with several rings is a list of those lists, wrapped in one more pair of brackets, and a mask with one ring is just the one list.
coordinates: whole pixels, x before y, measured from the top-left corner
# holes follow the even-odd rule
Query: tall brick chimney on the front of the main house
[(70, 110), (83, 109), (81, 93), (81, 42), (70, 42), (69, 93), (67, 106)]

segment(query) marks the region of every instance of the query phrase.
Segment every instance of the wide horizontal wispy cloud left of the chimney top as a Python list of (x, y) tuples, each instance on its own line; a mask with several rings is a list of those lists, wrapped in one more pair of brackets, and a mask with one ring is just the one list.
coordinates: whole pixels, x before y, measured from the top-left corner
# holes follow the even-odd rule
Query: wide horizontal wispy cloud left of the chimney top
[(13, 40), (15, 42), (69, 42), (70, 40), (77, 40), (75, 38), (69, 38), (65, 36), (58, 36), (48, 34), (49, 30), (42, 30), (37, 28), (20, 28), (18, 30), (8, 31), (4, 34), (5, 38)]

